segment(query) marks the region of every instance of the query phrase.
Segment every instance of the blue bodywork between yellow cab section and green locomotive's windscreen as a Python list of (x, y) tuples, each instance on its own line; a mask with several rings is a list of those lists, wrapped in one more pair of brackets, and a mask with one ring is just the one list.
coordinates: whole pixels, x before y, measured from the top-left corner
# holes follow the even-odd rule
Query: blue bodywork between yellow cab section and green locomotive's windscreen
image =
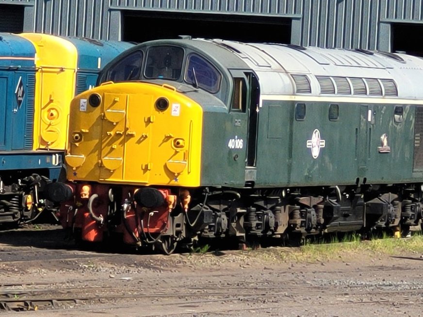
[(133, 46), (128, 42), (99, 41), (65, 37), (78, 51), (78, 78), (76, 94), (96, 85), (98, 72), (124, 50)]

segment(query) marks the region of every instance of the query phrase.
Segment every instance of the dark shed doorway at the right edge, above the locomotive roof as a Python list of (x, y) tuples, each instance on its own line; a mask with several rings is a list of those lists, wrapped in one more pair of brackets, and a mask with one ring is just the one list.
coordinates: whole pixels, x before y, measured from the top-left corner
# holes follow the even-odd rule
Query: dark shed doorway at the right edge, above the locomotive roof
[(423, 56), (423, 24), (392, 23), (392, 52)]

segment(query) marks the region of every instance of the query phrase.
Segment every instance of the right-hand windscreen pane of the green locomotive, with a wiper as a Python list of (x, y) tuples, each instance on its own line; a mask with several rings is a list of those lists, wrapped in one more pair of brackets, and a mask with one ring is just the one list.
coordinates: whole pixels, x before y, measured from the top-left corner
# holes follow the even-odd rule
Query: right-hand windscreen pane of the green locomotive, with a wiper
[(187, 83), (214, 94), (219, 90), (222, 75), (204, 58), (192, 54), (188, 57), (184, 79)]

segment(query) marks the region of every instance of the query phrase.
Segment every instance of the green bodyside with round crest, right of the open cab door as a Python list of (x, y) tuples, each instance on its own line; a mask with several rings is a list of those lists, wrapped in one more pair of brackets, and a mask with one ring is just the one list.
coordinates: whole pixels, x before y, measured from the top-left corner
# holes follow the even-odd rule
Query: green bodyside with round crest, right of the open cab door
[[(368, 184), (421, 181), (421, 173), (412, 172), (415, 106), (403, 105), (402, 122), (396, 123), (392, 104), (338, 103), (334, 121), (329, 103), (305, 104), (306, 116), (297, 121), (295, 102), (263, 102), (255, 187), (347, 185), (357, 178)], [(324, 144), (313, 158), (307, 141), (315, 129)], [(379, 153), (383, 134), (388, 153)]]

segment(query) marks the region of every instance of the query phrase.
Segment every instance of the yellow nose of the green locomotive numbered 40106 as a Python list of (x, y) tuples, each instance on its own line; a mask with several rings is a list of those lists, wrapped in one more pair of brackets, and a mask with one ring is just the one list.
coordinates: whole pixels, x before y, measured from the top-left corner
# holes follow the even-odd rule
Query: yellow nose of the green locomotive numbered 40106
[(201, 107), (172, 86), (103, 84), (72, 101), (67, 177), (198, 186), (201, 131)]

